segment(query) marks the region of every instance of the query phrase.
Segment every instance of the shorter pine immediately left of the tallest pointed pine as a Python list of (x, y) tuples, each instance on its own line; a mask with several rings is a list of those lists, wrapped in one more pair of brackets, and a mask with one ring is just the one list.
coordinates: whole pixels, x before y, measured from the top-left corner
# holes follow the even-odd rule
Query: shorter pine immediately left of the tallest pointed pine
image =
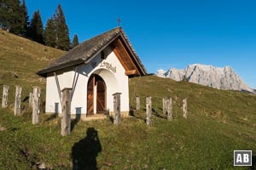
[(56, 33), (55, 33), (55, 22), (52, 18), (47, 20), (44, 30), (44, 42), (45, 45), (55, 48)]

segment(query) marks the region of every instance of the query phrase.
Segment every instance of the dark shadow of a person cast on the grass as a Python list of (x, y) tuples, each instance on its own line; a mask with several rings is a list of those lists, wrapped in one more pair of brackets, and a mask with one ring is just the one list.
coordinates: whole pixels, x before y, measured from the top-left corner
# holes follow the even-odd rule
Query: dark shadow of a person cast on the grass
[(97, 170), (96, 156), (102, 151), (102, 144), (94, 127), (89, 127), (84, 139), (73, 144), (73, 170)]

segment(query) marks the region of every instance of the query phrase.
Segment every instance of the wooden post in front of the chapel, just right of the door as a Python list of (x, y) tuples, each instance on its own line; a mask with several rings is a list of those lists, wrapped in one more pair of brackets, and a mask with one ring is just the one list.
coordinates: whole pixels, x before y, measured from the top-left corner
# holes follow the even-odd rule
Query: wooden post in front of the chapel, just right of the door
[(120, 94), (116, 93), (113, 94), (113, 124), (119, 125), (121, 122), (121, 115), (120, 115)]

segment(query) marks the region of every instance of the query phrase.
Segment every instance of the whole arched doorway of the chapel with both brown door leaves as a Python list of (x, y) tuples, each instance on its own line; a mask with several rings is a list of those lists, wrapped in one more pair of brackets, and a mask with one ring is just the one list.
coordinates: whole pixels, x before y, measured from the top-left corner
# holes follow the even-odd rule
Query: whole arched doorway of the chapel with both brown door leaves
[(106, 83), (102, 77), (93, 74), (87, 85), (87, 114), (102, 113), (106, 111)]

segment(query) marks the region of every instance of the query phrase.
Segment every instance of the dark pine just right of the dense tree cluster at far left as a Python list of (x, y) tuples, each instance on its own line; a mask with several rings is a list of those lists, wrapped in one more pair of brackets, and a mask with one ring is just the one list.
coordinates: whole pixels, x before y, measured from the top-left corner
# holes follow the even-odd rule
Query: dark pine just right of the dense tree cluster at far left
[(44, 43), (43, 32), (44, 28), (41, 20), (41, 14), (39, 10), (37, 10), (34, 12), (30, 26), (28, 27), (28, 37), (31, 37), (32, 40), (36, 42)]

